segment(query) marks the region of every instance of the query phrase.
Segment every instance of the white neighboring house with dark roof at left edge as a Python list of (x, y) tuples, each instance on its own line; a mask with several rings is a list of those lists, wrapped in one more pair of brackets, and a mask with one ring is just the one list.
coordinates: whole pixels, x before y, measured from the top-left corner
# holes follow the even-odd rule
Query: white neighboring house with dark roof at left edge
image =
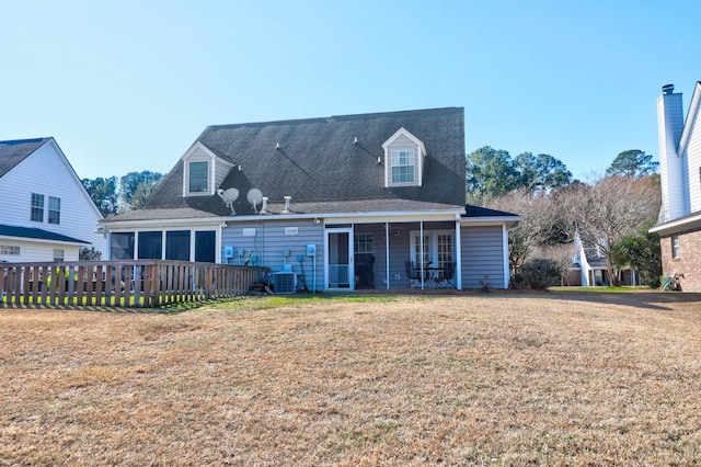
[(102, 215), (51, 137), (0, 141), (0, 261), (78, 261), (106, 252)]

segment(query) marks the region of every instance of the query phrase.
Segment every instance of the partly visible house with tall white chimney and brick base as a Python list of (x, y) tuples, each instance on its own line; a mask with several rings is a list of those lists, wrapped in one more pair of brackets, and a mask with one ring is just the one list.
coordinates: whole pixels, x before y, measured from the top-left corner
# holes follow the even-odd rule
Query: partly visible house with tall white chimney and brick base
[(681, 93), (663, 87), (657, 100), (662, 209), (658, 224), (663, 273), (683, 274), (681, 287), (701, 292), (701, 81), (685, 119)]

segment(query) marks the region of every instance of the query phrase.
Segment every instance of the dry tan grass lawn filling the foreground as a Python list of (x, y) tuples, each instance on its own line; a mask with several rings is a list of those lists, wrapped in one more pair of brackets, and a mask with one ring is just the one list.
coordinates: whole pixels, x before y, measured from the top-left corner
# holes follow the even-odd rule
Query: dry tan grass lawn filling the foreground
[(0, 465), (692, 465), (698, 298), (0, 310)]

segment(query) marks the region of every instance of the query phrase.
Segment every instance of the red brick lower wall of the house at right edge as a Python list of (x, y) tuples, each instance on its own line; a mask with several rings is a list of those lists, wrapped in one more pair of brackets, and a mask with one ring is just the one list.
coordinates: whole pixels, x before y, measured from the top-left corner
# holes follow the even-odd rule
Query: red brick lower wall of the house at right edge
[(663, 274), (671, 273), (685, 275), (681, 289), (685, 292), (701, 292), (701, 229), (681, 232), (679, 237), (679, 258), (673, 258), (673, 236), (660, 237)]

